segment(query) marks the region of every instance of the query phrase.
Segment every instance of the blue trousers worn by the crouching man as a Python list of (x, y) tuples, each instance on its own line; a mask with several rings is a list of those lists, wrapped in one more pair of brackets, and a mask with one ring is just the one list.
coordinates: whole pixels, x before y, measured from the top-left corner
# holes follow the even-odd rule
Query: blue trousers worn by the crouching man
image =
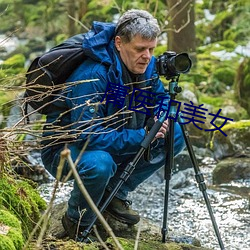
[[(165, 164), (166, 150), (164, 147), (164, 139), (158, 139), (152, 144), (151, 160), (145, 161), (142, 157), (135, 167), (128, 180), (123, 183), (116, 197), (125, 200), (128, 193), (135, 190), (136, 187), (151, 176), (156, 170)], [(75, 161), (80, 154), (81, 148), (74, 143), (69, 144), (71, 157)], [(175, 124), (174, 136), (174, 155), (177, 155), (185, 148), (184, 138), (179, 124)], [(53, 147), (42, 151), (42, 160), (45, 168), (55, 177), (57, 167), (60, 160), (60, 152), (62, 149), (53, 150)], [(102, 199), (104, 191), (111, 191), (120, 181), (120, 175), (127, 164), (133, 160), (135, 155), (115, 156), (101, 150), (85, 151), (78, 164), (78, 174), (92, 197), (96, 205)], [(65, 163), (63, 175), (67, 175), (70, 167)], [(90, 209), (88, 203), (84, 199), (76, 182), (68, 201), (68, 216), (75, 221), (79, 221), (80, 212), (84, 209), (81, 225), (88, 226), (94, 217), (94, 213)]]

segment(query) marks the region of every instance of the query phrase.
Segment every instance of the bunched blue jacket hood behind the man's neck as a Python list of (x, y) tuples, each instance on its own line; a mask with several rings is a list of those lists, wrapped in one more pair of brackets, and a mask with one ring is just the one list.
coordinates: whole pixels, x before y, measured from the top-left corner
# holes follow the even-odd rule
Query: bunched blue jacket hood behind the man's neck
[(95, 61), (111, 65), (115, 35), (115, 24), (94, 21), (92, 28), (85, 34), (83, 49)]

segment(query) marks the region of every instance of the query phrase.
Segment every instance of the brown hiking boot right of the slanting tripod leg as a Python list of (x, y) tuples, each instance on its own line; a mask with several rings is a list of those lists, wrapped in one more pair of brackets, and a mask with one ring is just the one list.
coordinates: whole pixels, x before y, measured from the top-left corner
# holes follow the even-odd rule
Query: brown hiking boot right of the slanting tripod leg
[(132, 201), (114, 197), (105, 211), (122, 223), (134, 225), (140, 221), (140, 216), (130, 208), (131, 205)]

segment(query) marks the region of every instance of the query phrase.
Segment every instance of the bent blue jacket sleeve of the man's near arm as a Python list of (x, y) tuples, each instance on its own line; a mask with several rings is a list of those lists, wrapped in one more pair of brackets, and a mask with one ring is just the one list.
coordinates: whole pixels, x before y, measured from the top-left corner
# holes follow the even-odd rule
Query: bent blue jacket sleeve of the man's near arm
[(107, 116), (106, 105), (100, 103), (107, 87), (106, 74), (104, 66), (90, 66), (86, 62), (68, 79), (74, 83), (91, 79), (66, 90), (66, 102), (71, 109), (71, 131), (76, 135), (79, 147), (88, 143), (88, 150), (104, 150), (115, 155), (136, 153), (146, 132), (143, 128), (132, 130), (109, 126), (115, 123), (115, 114)]

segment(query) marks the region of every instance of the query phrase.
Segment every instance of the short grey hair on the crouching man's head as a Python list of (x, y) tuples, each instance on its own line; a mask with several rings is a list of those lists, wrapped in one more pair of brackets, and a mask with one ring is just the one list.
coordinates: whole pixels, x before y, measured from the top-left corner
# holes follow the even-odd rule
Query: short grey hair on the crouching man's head
[(135, 35), (153, 40), (160, 34), (157, 20), (145, 10), (128, 10), (118, 20), (116, 36), (128, 43)]

